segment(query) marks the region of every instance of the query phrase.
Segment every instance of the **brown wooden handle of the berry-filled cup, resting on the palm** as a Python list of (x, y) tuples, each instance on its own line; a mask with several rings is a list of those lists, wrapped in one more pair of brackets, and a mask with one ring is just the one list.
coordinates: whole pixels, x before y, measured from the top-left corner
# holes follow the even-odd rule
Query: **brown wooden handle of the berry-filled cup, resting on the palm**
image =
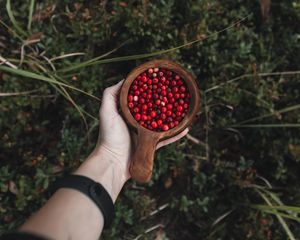
[(139, 183), (147, 183), (152, 176), (154, 154), (159, 137), (139, 128), (137, 147), (131, 159), (129, 172), (131, 177)]

